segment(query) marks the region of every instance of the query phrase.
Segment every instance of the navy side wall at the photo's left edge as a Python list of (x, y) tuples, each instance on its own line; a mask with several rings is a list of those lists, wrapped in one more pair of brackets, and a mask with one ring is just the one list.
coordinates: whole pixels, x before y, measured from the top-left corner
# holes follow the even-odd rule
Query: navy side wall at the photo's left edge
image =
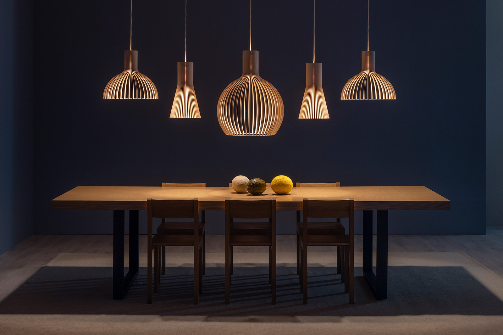
[(0, 2), (0, 255), (33, 234), (33, 2)]

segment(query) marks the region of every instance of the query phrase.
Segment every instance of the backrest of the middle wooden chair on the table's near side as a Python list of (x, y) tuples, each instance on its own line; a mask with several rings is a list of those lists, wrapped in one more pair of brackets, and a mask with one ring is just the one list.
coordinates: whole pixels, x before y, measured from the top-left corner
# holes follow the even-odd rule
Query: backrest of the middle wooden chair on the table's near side
[(225, 199), (225, 217), (236, 219), (276, 220), (276, 199), (270, 200), (229, 200)]

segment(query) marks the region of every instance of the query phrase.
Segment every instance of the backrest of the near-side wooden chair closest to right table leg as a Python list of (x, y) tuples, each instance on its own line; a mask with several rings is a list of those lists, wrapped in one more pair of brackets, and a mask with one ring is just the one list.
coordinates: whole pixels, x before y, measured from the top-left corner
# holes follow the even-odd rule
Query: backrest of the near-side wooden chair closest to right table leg
[(309, 200), (304, 199), (303, 221), (307, 218), (341, 218), (349, 217), (350, 220), (354, 214), (354, 199), (348, 200)]

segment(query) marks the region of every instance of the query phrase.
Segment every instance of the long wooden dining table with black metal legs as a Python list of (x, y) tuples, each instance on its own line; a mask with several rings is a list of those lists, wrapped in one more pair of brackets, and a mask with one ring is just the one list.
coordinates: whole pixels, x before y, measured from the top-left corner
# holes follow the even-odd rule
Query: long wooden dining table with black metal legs
[[(258, 196), (238, 194), (230, 187), (77, 186), (54, 198), (52, 209), (113, 211), (113, 292), (123, 299), (138, 276), (139, 211), (147, 199), (198, 199), (199, 210), (225, 210), (225, 199), (276, 199), (276, 210), (302, 210), (303, 199), (354, 199), (355, 210), (363, 211), (363, 275), (376, 299), (387, 299), (388, 211), (449, 210), (450, 201), (425, 186), (294, 187), (286, 195), (271, 188)], [(129, 271), (124, 276), (125, 211), (129, 211)], [(372, 268), (373, 211), (376, 211), (376, 272)], [(223, 225), (223, 222), (221, 223)], [(292, 222), (292, 225), (295, 222)]]

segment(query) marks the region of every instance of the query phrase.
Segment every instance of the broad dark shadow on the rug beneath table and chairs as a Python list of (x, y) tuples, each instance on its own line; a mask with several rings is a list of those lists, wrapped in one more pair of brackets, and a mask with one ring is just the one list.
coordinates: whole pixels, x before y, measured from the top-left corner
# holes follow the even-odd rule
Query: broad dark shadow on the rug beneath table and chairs
[[(385, 316), (422, 314), (503, 315), (503, 302), (463, 267), (388, 268), (388, 300), (377, 301), (355, 267), (355, 304), (347, 303), (337, 268), (310, 265), (309, 303), (302, 304), (295, 264), (278, 264), (277, 304), (271, 305), (267, 264), (236, 264), (231, 305), (224, 304), (224, 266), (207, 264), (205, 291), (193, 301), (193, 274), (187, 265), (166, 266), (155, 293), (145, 304), (146, 269), (126, 298), (112, 299), (109, 267), (46, 266), (0, 302), (0, 314), (156, 314), (249, 316)], [(503, 281), (498, 292), (503, 292)], [(492, 288), (494, 290), (494, 288)], [(499, 293), (498, 293), (499, 294)]]

